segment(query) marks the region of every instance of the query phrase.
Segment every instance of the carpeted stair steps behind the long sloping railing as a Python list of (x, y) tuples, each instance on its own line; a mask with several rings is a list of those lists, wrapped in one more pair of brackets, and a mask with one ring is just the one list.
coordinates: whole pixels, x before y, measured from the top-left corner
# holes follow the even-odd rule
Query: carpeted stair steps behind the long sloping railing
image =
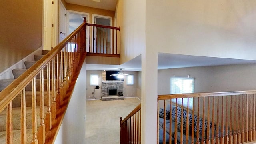
[[(12, 74), (14, 79), (0, 80), (0, 91), (2, 91), (6, 86), (11, 84), (16, 78), (23, 74), (28, 68), (30, 68), (36, 61), (40, 60), (45, 54), (49, 51), (42, 50), (42, 55), (34, 55), (35, 61), (26, 61), (24, 62), (26, 69), (14, 69)], [(44, 70), (44, 88), (47, 89), (46, 83), (46, 70)], [(37, 127), (40, 126), (40, 74), (36, 76), (36, 98), (37, 98)], [(32, 140), (32, 84), (26, 86), (26, 116), (27, 116), (27, 143), (30, 143)], [(44, 92), (44, 102), (48, 101), (47, 92)], [(14, 144), (20, 143), (20, 111), (21, 111), (21, 94), (19, 94), (12, 101), (12, 116), (13, 116), (13, 142)], [(47, 112), (47, 104), (44, 103), (44, 112)], [(6, 109), (0, 113), (0, 144), (6, 143)], [(46, 113), (45, 113), (46, 114)]]

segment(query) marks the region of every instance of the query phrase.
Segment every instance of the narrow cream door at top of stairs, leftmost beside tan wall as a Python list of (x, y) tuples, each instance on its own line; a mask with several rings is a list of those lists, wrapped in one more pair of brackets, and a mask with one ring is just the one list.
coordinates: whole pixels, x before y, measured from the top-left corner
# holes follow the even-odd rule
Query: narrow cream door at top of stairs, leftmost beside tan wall
[(44, 50), (52, 49), (52, 1), (44, 0)]

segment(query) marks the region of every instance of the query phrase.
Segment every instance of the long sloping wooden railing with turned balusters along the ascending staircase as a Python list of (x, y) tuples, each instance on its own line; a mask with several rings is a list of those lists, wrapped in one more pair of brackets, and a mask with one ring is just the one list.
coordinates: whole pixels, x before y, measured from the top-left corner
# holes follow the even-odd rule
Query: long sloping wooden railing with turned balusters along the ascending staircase
[[(31, 68), (0, 92), (0, 112), (6, 112), (6, 144), (14, 142), (12, 101), (20, 100), (20, 142), (31, 144), (53, 143), (58, 127), (70, 100), (81, 64), (85, 59), (86, 21)], [(39, 79), (37, 79), (39, 75)], [(46, 84), (44, 84), (46, 83)], [(27, 118), (27, 88), (32, 89), (32, 118)], [(40, 97), (40, 102), (37, 101)], [(46, 101), (45, 100), (46, 97)], [(38, 107), (39, 106), (39, 107)], [(39, 110), (37, 110), (39, 109)], [(37, 121), (39, 118), (39, 122)], [(28, 131), (28, 120), (32, 130)], [(27, 131), (29, 133), (27, 133)]]

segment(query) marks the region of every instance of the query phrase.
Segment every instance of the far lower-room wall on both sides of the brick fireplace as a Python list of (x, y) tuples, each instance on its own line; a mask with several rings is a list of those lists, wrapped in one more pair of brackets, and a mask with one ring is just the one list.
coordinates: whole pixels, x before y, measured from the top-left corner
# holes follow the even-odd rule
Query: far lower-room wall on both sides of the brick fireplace
[[(140, 98), (140, 93), (138, 94), (138, 72), (133, 71), (124, 71), (125, 74), (133, 74), (134, 75), (134, 85), (126, 84), (126, 76), (124, 77), (123, 82), (123, 94), (124, 97), (138, 97)], [(95, 89), (95, 86), (90, 85), (90, 74), (98, 74), (99, 75), (99, 89)], [(101, 70), (87, 70), (87, 81), (86, 81), (86, 99), (101, 99), (101, 90), (102, 90), (102, 71)], [(95, 91), (94, 91), (95, 89)], [(94, 92), (94, 95), (92, 94)]]

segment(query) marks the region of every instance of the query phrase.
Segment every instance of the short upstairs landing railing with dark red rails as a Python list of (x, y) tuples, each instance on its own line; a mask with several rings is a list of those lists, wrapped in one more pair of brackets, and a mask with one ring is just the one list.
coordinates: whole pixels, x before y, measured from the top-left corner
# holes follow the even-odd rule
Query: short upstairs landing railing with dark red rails
[(120, 46), (118, 46), (118, 40), (120, 28), (88, 23), (86, 25), (87, 55), (119, 57)]

